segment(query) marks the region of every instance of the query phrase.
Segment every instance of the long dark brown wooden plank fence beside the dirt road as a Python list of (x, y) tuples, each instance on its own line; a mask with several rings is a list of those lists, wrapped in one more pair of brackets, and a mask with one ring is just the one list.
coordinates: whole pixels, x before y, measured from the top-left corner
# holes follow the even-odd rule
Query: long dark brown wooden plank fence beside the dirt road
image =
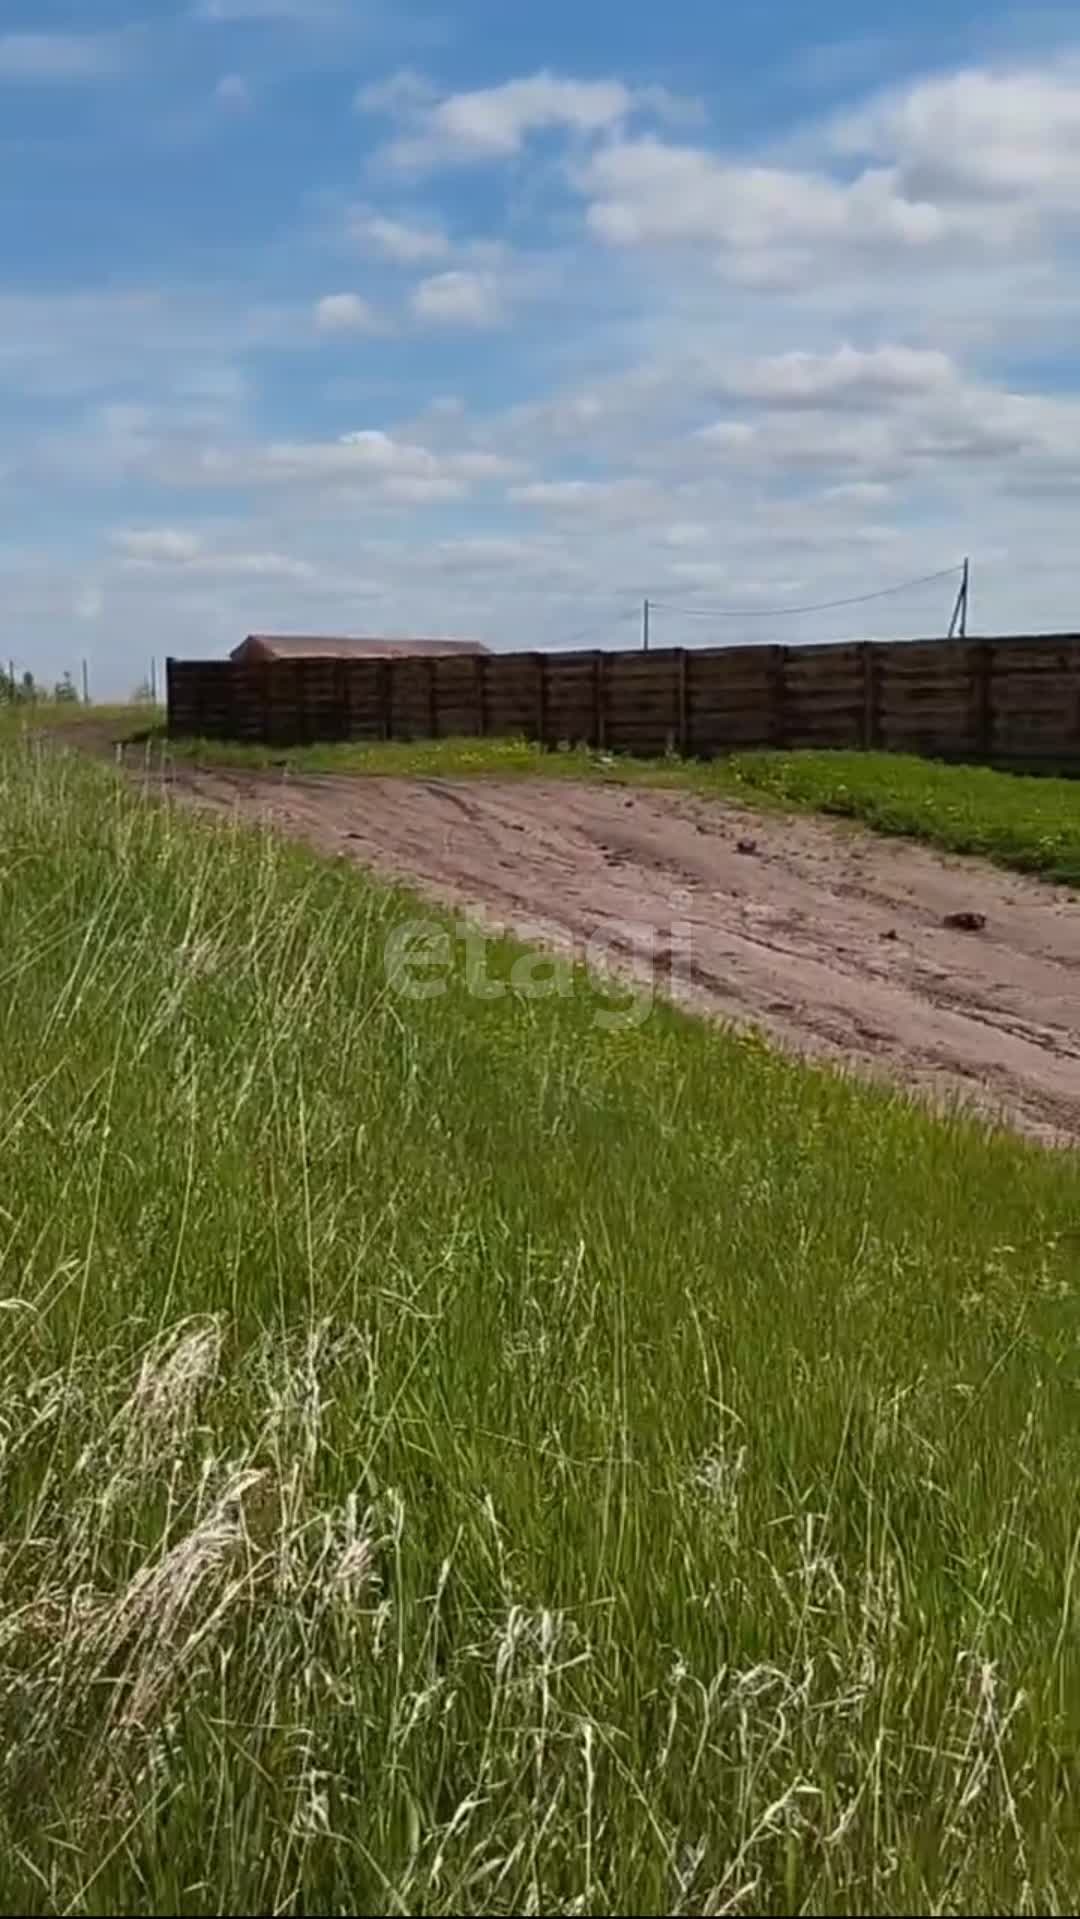
[(1080, 764), (1080, 635), (825, 647), (169, 660), (173, 737), (528, 735), (612, 752), (739, 746)]

